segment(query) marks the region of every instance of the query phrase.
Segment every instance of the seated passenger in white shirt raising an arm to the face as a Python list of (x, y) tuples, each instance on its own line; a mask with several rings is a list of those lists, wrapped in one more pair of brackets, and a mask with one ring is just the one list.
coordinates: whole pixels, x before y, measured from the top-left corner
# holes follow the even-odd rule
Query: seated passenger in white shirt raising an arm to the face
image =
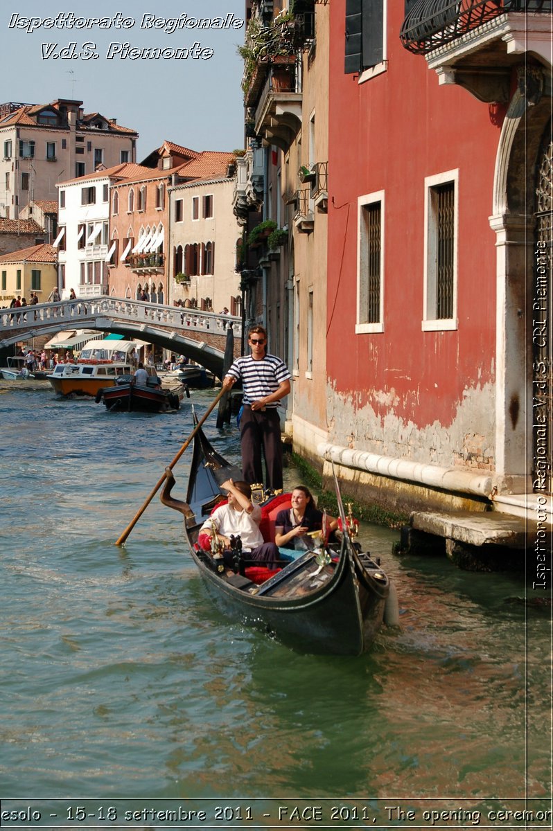
[[(259, 563), (268, 568), (276, 568), (279, 562), (279, 549), (274, 543), (264, 543), (263, 535), (259, 530), (261, 509), (251, 501), (251, 488), (247, 482), (234, 482), (227, 479), (221, 485), (227, 491), (228, 503), (215, 508), (210, 519), (206, 519), (200, 528), (199, 542), (206, 541), (213, 535), (213, 525), (217, 529), (217, 536), (224, 546), (223, 558), (228, 565), (232, 564), (233, 555), (230, 551), (230, 537), (240, 537), (242, 554), (246, 563)], [(202, 536), (204, 540), (202, 540)]]

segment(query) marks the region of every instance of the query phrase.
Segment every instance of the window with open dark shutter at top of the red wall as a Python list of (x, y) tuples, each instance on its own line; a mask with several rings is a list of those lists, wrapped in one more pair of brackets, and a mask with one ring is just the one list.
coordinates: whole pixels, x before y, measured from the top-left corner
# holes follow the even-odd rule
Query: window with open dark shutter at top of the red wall
[(363, 71), (385, 69), (385, 32), (385, 0), (346, 0), (346, 75), (358, 72), (364, 81)]

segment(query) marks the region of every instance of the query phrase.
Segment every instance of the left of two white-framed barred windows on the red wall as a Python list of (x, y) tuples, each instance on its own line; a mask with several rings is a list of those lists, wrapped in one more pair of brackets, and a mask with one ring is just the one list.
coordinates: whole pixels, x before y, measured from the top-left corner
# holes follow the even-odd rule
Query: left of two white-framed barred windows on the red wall
[(383, 208), (383, 191), (358, 198), (358, 334), (384, 331)]

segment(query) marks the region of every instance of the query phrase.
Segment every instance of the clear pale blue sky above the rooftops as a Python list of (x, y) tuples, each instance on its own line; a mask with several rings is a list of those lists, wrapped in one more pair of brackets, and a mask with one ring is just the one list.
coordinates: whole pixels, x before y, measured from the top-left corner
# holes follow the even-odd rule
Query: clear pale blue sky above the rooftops
[[(244, 6), (244, 0), (61, 0), (52, 5), (8, 0), (0, 12), (2, 66), (8, 68), (2, 72), (0, 103), (83, 101), (85, 112), (116, 118), (140, 134), (138, 161), (165, 140), (192, 150), (241, 148), (243, 63), (236, 48), (244, 42), (244, 26), (170, 28), (175, 20), (197, 17), (243, 21)], [(71, 27), (72, 15), (109, 18), (110, 26)], [(190, 50), (201, 57), (132, 57), (131, 50), (145, 48), (166, 54)]]

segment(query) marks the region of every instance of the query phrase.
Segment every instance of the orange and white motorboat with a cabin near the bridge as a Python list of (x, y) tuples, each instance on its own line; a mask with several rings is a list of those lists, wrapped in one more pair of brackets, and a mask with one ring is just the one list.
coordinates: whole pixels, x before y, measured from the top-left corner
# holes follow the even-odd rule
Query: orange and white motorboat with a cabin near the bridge
[(138, 352), (134, 341), (88, 341), (76, 362), (57, 364), (47, 379), (57, 395), (93, 398), (99, 390), (115, 386), (118, 377), (133, 374), (133, 349)]

